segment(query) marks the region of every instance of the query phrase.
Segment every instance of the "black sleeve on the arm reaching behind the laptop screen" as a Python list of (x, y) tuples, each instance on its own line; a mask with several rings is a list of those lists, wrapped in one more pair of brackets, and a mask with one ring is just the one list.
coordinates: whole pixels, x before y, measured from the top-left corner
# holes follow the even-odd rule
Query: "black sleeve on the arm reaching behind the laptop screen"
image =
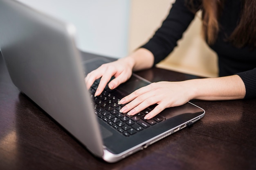
[(141, 46), (153, 53), (154, 65), (171, 53), (193, 20), (195, 15), (185, 3), (186, 0), (176, 0), (162, 26), (146, 44)]

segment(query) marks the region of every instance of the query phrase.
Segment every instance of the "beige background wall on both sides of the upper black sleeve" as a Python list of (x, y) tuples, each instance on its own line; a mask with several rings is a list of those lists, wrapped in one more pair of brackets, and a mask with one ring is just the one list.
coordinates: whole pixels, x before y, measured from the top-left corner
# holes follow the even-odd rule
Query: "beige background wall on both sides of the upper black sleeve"
[[(129, 52), (144, 44), (161, 26), (175, 0), (131, 0)], [(216, 77), (216, 54), (201, 36), (200, 13), (174, 51), (157, 67), (206, 77)]]

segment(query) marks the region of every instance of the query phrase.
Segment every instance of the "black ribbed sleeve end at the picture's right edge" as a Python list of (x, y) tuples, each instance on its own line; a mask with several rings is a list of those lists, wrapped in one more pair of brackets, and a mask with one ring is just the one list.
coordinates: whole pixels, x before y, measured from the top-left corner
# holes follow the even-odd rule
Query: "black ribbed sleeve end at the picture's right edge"
[(237, 74), (245, 83), (245, 99), (256, 98), (256, 68)]

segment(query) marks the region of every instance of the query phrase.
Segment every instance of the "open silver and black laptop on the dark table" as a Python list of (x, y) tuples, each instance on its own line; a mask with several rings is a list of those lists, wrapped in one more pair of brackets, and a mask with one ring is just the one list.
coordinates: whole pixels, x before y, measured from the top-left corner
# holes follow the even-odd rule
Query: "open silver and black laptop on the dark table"
[(0, 0), (0, 22), (0, 50), (13, 84), (95, 157), (117, 162), (204, 116), (191, 102), (148, 121), (143, 117), (154, 106), (135, 116), (119, 113), (118, 100), (149, 81), (133, 74), (117, 89), (106, 88), (94, 98), (97, 81), (88, 90), (85, 75), (109, 61), (83, 61), (89, 54), (76, 48), (72, 24), (16, 0)]

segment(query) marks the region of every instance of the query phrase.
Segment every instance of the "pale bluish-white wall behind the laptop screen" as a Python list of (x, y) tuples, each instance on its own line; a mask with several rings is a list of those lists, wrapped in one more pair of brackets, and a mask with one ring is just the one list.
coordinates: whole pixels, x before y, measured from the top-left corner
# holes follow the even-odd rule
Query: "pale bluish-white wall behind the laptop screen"
[(128, 53), (129, 0), (19, 0), (76, 26), (77, 46), (110, 57)]

